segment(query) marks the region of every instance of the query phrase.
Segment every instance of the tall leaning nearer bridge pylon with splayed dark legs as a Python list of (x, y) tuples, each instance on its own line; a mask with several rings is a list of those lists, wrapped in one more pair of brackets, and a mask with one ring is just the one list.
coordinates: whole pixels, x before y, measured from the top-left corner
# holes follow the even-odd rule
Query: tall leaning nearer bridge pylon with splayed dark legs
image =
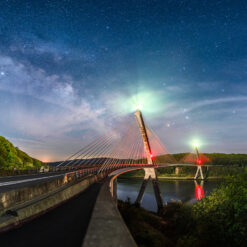
[[(139, 130), (140, 130), (141, 136), (142, 136), (145, 152), (147, 155), (148, 164), (153, 165), (152, 152), (151, 152), (151, 147), (150, 147), (150, 143), (149, 143), (149, 139), (147, 135), (147, 130), (146, 130), (146, 126), (145, 126), (142, 113), (140, 110), (137, 110), (135, 112), (135, 118), (136, 118)], [(141, 204), (148, 181), (149, 179), (151, 179), (153, 188), (154, 188), (155, 199), (156, 199), (157, 206), (158, 206), (158, 212), (161, 212), (163, 210), (164, 203), (163, 203), (162, 195), (160, 192), (159, 181), (158, 181), (155, 169), (154, 168), (144, 168), (144, 172), (145, 172), (144, 180), (142, 182), (139, 194), (137, 196), (136, 203)]]

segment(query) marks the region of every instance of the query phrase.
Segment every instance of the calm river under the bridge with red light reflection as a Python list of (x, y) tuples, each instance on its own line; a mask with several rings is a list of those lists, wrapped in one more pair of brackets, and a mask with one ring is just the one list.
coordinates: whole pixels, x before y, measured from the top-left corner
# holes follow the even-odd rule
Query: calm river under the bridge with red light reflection
[[(131, 202), (135, 202), (142, 181), (140, 178), (118, 178), (118, 199), (125, 201), (127, 198), (130, 198)], [(219, 180), (209, 180), (203, 182), (203, 184), (200, 181), (198, 184), (195, 184), (193, 180), (159, 180), (164, 203), (171, 202), (172, 200), (194, 203), (197, 199), (212, 192), (220, 183), (221, 181)], [(151, 181), (148, 183), (141, 206), (150, 211), (157, 211)]]

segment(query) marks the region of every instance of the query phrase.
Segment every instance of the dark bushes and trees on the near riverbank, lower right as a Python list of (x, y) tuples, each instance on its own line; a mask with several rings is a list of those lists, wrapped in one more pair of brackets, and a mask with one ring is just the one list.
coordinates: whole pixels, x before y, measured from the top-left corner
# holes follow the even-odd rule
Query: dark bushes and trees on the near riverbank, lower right
[(120, 212), (138, 246), (247, 246), (247, 172), (193, 205), (169, 203), (161, 215), (130, 201)]

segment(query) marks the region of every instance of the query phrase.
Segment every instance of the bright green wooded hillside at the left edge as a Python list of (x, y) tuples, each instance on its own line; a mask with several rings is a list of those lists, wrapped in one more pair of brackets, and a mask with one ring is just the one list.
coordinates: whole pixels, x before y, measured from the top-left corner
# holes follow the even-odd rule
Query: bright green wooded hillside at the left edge
[(36, 169), (42, 165), (40, 160), (30, 157), (18, 147), (14, 147), (6, 138), (0, 136), (0, 170)]

